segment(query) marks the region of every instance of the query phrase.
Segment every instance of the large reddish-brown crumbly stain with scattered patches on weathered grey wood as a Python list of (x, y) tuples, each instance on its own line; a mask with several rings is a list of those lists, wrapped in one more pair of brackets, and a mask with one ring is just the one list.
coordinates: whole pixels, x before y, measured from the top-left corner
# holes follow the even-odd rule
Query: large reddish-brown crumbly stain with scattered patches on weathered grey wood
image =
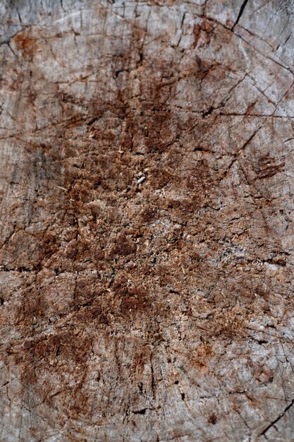
[[(200, 37), (203, 35), (206, 35), (204, 41), (209, 44), (212, 32), (210, 22), (195, 25), (194, 47), (200, 44)], [(118, 71), (122, 66), (125, 71), (133, 66), (132, 54), (137, 50), (135, 44), (142, 35), (144, 33), (140, 32), (134, 35), (130, 54), (121, 54), (120, 60), (114, 64), (113, 75), (118, 80), (121, 78)], [(23, 55), (32, 58), (37, 43), (30, 34), (21, 32), (15, 40)], [(43, 268), (52, 271), (55, 278), (63, 273), (69, 275), (71, 285), (59, 289), (58, 295), (60, 301), (63, 298), (68, 299), (70, 292), (71, 299), (66, 300), (65, 312), (56, 314), (58, 320), (63, 316), (66, 318), (65, 325), (62, 325), (66, 330), (56, 328), (56, 335), (44, 340), (32, 335), (33, 342), (26, 343), (23, 347), (16, 345), (16, 360), (22, 371), (24, 388), (28, 385), (38, 386), (39, 382), (42, 385), (42, 374), (46, 372), (52, 376), (62, 376), (67, 369), (64, 361), (75, 366), (71, 376), (74, 378), (76, 371), (78, 380), (75, 386), (66, 384), (71, 392), (68, 398), (68, 415), (73, 419), (79, 414), (87, 414), (89, 410), (90, 393), (87, 395), (83, 382), (90, 370), (93, 350), (91, 352), (90, 338), (84, 331), (90, 330), (97, 341), (105, 339), (111, 348), (116, 333), (123, 329), (128, 330), (131, 335), (140, 323), (142, 337), (135, 342), (130, 352), (136, 354), (130, 370), (134, 373), (134, 382), (139, 383), (145, 364), (150, 363), (151, 352), (146, 346), (156, 348), (164, 342), (164, 327), (169, 332), (175, 316), (183, 314), (180, 306), (184, 301), (187, 304), (190, 302), (186, 292), (189, 292), (190, 287), (195, 287), (195, 281), (202, 282), (202, 275), (206, 277), (211, 269), (214, 271), (209, 261), (209, 250), (202, 255), (192, 251), (193, 241), (196, 242), (195, 238), (199, 243), (207, 241), (208, 249), (212, 250), (218, 242), (223, 241), (223, 237), (217, 237), (218, 232), (214, 232), (214, 229), (209, 232), (210, 227), (218, 226), (218, 218), (214, 217), (213, 210), (207, 218), (202, 219), (199, 216), (196, 222), (189, 224), (196, 213), (209, 207), (209, 194), (214, 193), (217, 196), (219, 182), (212, 172), (209, 160), (205, 159), (211, 147), (207, 135), (215, 120), (207, 123), (197, 115), (180, 120), (178, 112), (169, 109), (166, 104), (176, 90), (173, 74), (178, 66), (149, 60), (149, 65), (157, 66), (162, 75), (158, 79), (160, 76), (154, 71), (146, 79), (142, 77), (142, 66), (146, 66), (147, 61), (139, 50), (135, 59), (137, 66), (133, 70), (135, 69), (137, 79), (140, 80), (142, 93), (137, 107), (130, 104), (133, 96), (128, 90), (128, 76), (117, 88), (114, 100), (94, 98), (87, 103), (86, 116), (74, 112), (70, 106), (81, 104), (78, 98), (59, 93), (56, 98), (64, 115), (72, 118), (71, 124), (61, 129), (59, 150), (56, 153), (53, 148), (45, 145), (31, 145), (28, 148), (30, 160), (37, 161), (41, 158), (42, 167), (48, 172), (50, 179), (43, 181), (47, 182), (47, 198), (54, 216), (56, 214), (52, 222), (55, 230), (49, 229), (38, 234), (39, 259), (36, 268), (37, 271)], [(214, 69), (212, 64), (197, 55), (193, 63), (191, 69), (195, 70), (196, 64), (195, 78), (199, 81), (204, 80), (209, 71)], [(162, 78), (167, 78), (170, 82), (164, 82)], [(30, 101), (34, 100), (35, 95), (32, 92)], [(250, 104), (247, 113), (254, 106), (255, 103)], [(109, 113), (111, 117), (107, 117)], [(189, 144), (182, 138), (190, 133), (191, 127), (195, 127), (197, 131), (197, 141), (192, 135)], [(80, 128), (85, 129), (82, 137), (75, 135), (75, 129)], [(203, 145), (203, 149), (196, 152), (201, 155), (197, 160), (194, 153), (191, 154), (188, 150), (195, 143)], [(138, 145), (139, 148), (143, 146), (142, 151), (136, 150), (139, 149)], [(190, 155), (188, 166), (184, 162), (183, 153), (186, 152)], [(284, 164), (267, 165), (265, 160), (267, 159), (259, 161), (259, 179), (274, 176), (283, 170)], [(149, 168), (148, 178), (141, 190), (135, 182), (136, 174), (145, 167)], [(186, 167), (185, 173), (183, 167)], [(36, 176), (42, 183), (40, 174)], [(60, 184), (63, 189), (59, 189), (59, 196), (56, 196), (56, 191), (51, 192), (51, 188)], [(167, 196), (154, 196), (161, 189), (165, 189)], [(174, 196), (178, 190), (181, 193), (180, 198)], [(130, 202), (135, 201), (140, 192), (144, 196), (143, 203), (135, 206), (132, 212)], [(169, 225), (174, 224), (178, 224), (185, 234), (192, 235), (192, 239), (182, 238), (177, 233), (173, 237), (169, 232)], [(153, 225), (162, 225), (167, 233), (154, 230)], [(146, 239), (150, 243), (145, 247), (142, 244)], [(176, 241), (172, 242), (171, 239)], [(182, 260), (173, 260), (173, 256), (181, 254)], [(190, 263), (190, 268), (186, 267), (186, 263)], [(85, 271), (93, 272), (94, 276), (83, 277), (82, 273)], [(235, 272), (235, 269), (232, 271)], [(215, 271), (211, 277), (218, 282), (220, 274)], [(194, 278), (191, 286), (188, 279), (185, 279), (188, 277)], [(177, 283), (179, 289), (169, 288)], [(36, 287), (36, 279), (32, 277), (22, 293), (18, 323), (23, 321), (27, 327), (35, 326), (35, 318), (38, 321), (46, 318), (49, 307), (43, 299), (42, 289)], [(164, 292), (166, 287), (169, 288), (167, 296)], [(191, 333), (202, 333), (203, 342), (195, 352), (185, 354), (188, 368), (190, 366), (201, 372), (208, 371), (214, 360), (210, 341), (242, 338), (243, 323), (250, 316), (248, 306), (253, 303), (254, 294), (252, 287), (247, 288), (246, 276), (229, 288), (231, 291), (228, 290), (226, 298), (228, 306), (224, 306), (219, 315), (212, 314), (205, 321), (191, 322)], [(261, 291), (256, 291), (260, 296), (263, 295)], [(178, 297), (172, 307), (167, 302), (171, 294)], [(247, 308), (242, 315), (231, 311), (236, 294), (240, 304)], [(215, 309), (224, 304), (223, 298), (223, 294), (215, 289), (207, 295), (207, 304)], [(58, 301), (49, 299), (47, 302), (51, 302), (51, 307), (54, 307), (54, 303)], [(204, 308), (199, 304), (200, 311), (202, 307)], [(192, 318), (189, 309), (185, 317)], [(125, 337), (121, 338), (121, 341), (124, 342), (124, 339)], [(100, 357), (99, 362), (102, 360), (103, 357)], [(120, 366), (117, 371), (121, 374)], [(48, 399), (52, 403), (54, 400), (58, 400), (58, 397)], [(216, 424), (216, 415), (211, 414), (208, 422)]]

